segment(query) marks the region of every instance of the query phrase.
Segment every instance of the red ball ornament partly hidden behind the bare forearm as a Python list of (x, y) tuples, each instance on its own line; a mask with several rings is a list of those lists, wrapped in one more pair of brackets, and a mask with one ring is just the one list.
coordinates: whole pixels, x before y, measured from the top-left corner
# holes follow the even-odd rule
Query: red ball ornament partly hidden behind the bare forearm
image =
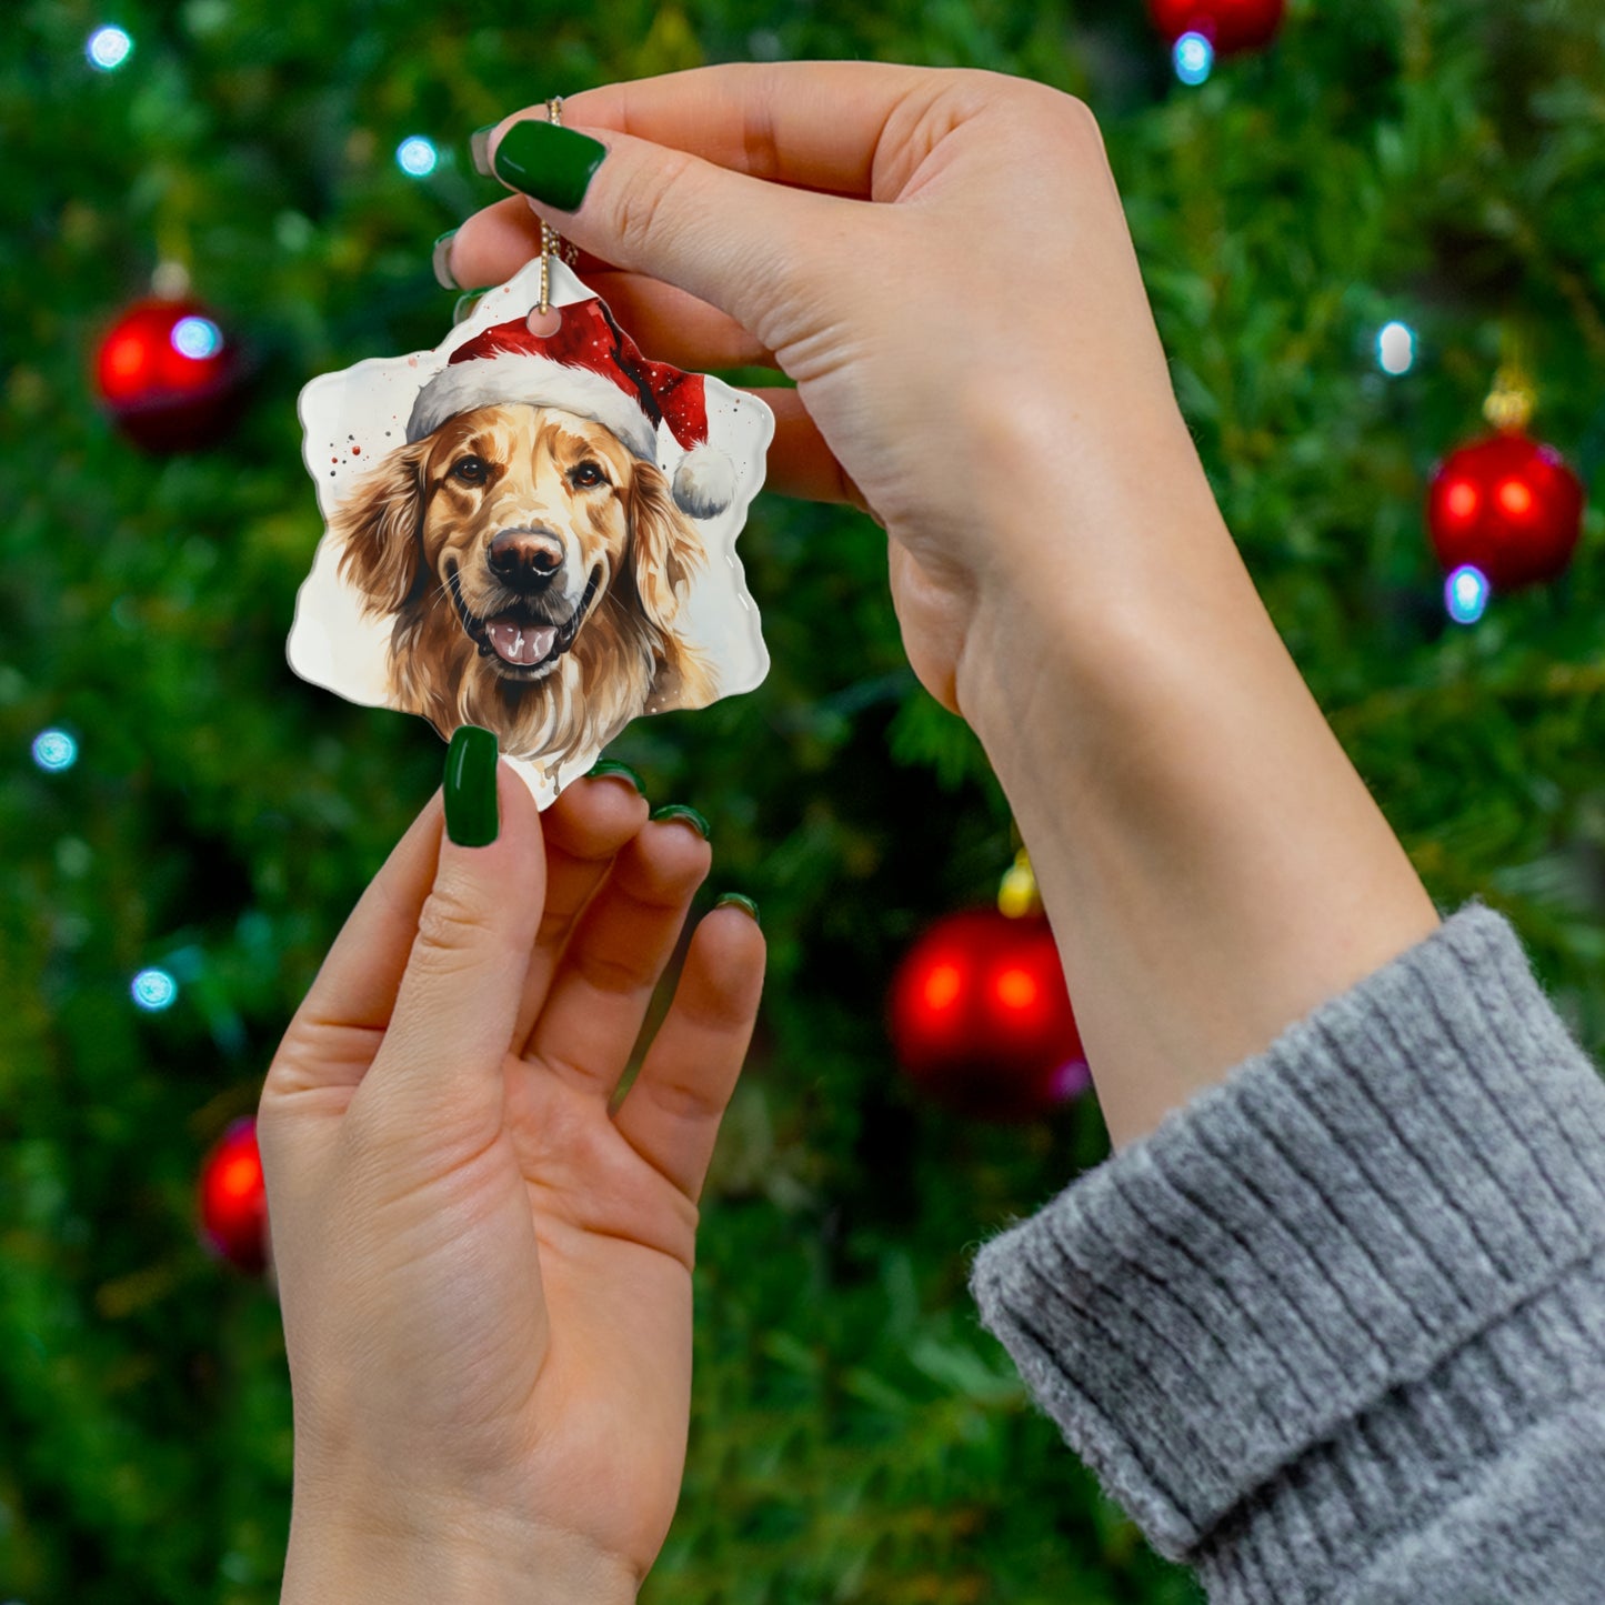
[(1032, 1120), (1090, 1083), (1042, 915), (968, 908), (939, 920), (892, 977), (897, 1059), (931, 1099), (981, 1120)]

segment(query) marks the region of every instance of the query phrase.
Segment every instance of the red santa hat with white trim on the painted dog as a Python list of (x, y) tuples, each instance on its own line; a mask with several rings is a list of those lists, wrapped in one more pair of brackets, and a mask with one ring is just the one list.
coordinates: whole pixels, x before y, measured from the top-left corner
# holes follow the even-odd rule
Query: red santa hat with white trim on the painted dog
[(716, 518), (735, 494), (735, 467), (708, 445), (703, 376), (640, 355), (597, 299), (559, 308), (555, 334), (530, 332), (523, 318), (480, 331), (417, 393), (408, 441), (448, 417), (501, 401), (555, 406), (612, 430), (634, 456), (658, 461), (658, 424), (668, 424), (685, 456), (674, 470), (676, 506)]

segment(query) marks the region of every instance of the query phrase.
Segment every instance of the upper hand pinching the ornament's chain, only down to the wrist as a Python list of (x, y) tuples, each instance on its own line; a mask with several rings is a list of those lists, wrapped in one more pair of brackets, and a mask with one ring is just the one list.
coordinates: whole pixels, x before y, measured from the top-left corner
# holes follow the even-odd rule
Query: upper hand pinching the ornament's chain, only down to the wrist
[(756, 392), (769, 482), (884, 525), (910, 663), (949, 708), (985, 711), (966, 655), (993, 661), (1032, 610), (1112, 607), (1135, 568), (1164, 583), (1178, 531), (1223, 530), (1080, 101), (786, 63), (587, 90), (563, 122), (607, 146), (584, 202), (469, 218), (457, 282), (514, 273), (544, 217), (650, 355), (794, 379)]

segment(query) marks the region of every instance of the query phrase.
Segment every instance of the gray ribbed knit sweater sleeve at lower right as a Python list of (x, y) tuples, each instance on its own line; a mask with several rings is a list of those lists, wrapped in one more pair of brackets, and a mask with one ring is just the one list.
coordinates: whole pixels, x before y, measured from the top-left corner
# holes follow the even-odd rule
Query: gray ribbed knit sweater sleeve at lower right
[(1480, 904), (971, 1290), (1213, 1605), (1605, 1602), (1605, 1082)]

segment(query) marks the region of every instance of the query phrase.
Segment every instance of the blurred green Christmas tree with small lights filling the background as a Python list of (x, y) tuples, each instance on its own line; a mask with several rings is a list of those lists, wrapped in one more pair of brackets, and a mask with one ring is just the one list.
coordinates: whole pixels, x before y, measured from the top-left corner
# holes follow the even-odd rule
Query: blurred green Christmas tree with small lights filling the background
[[(469, 130), (547, 95), (862, 56), (1087, 100), (1300, 669), (1440, 907), (1507, 913), (1605, 1046), (1599, 514), (1560, 578), (1488, 597), (1462, 576), (1448, 603), (1425, 525), (1501, 369), (1586, 488), (1605, 451), (1597, 10), (1295, 0), (1218, 56), (1197, 10), (1173, 42), (1140, 0), (11, 10), (0, 1597), (276, 1599), (278, 1310), (197, 1241), (196, 1178), (443, 758), (422, 721), (286, 664), (323, 530), (295, 396), (440, 340), (430, 241), (501, 193)], [(194, 300), (191, 358), (228, 351), (209, 446), (141, 448), (103, 404), (96, 351), (152, 274)], [(873, 525), (764, 498), (742, 557), (766, 684), (610, 751), (711, 820), (703, 904), (748, 892), (770, 937), (703, 1197), (685, 1489), (644, 1599), (1193, 1600), (965, 1290), (982, 1237), (1107, 1152), (1096, 1106), (966, 1119), (900, 1075), (883, 1024), (910, 942), (993, 894), (1008, 807), (904, 661)]]

